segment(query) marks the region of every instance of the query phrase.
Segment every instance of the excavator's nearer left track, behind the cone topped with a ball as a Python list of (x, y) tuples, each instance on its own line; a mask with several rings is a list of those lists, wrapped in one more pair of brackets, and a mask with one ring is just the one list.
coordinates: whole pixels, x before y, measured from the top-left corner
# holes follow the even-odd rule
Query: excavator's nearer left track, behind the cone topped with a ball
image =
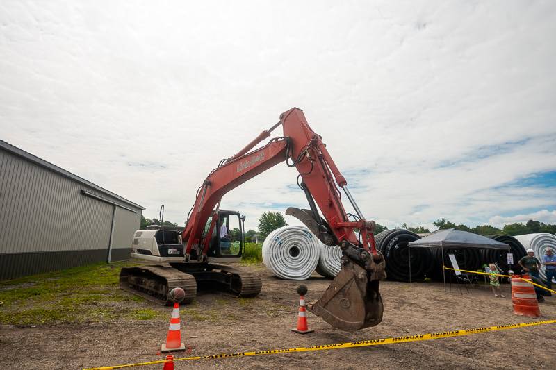
[(120, 288), (161, 305), (173, 304), (168, 294), (176, 287), (186, 292), (182, 303), (191, 303), (197, 296), (195, 277), (169, 265), (123, 267), (120, 271)]

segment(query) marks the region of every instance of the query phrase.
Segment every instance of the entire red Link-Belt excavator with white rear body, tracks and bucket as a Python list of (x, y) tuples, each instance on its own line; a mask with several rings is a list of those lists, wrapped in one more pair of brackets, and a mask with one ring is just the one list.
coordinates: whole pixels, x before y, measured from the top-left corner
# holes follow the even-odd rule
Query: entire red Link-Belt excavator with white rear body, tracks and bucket
[[(282, 126), (284, 135), (254, 149), (278, 126)], [(131, 256), (159, 264), (124, 267), (120, 287), (163, 304), (169, 303), (168, 292), (174, 287), (186, 291), (186, 302), (195, 298), (197, 288), (245, 297), (259, 294), (259, 276), (220, 264), (240, 260), (245, 221), (239, 212), (220, 210), (220, 201), (230, 190), (280, 162), (297, 169), (297, 185), (309, 202), (309, 209), (288, 208), (286, 215), (300, 219), (322, 243), (340, 246), (343, 254), (341, 271), (318, 301), (306, 306), (307, 310), (341, 330), (354, 331), (380, 323), (383, 305), (379, 280), (386, 273), (384, 256), (375, 247), (375, 222), (363, 217), (322, 137), (309, 127), (299, 108), (282, 113), (277, 124), (220, 161), (197, 190), (183, 231), (136, 231)], [(357, 215), (345, 211), (340, 189)], [(239, 233), (231, 232), (234, 220)]]

